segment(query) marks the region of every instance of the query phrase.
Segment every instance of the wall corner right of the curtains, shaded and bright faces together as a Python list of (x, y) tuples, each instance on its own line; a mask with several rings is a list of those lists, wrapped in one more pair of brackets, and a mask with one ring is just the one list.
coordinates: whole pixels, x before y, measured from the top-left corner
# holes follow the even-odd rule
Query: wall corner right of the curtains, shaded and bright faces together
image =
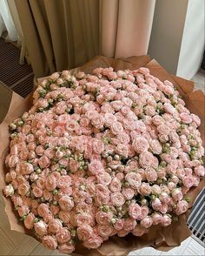
[(204, 0), (156, 0), (149, 55), (170, 73), (191, 78), (204, 50)]

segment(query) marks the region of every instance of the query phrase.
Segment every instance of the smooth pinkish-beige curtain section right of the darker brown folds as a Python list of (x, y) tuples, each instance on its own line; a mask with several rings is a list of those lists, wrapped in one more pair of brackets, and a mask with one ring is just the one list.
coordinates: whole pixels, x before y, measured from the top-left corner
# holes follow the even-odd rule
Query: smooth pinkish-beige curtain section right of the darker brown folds
[(107, 57), (147, 54), (155, 0), (102, 0), (101, 52)]

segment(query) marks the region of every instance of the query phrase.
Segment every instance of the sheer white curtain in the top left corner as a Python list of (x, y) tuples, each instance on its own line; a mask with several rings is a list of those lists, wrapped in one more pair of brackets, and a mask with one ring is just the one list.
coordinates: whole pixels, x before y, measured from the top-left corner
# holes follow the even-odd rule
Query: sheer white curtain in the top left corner
[(17, 41), (18, 34), (15, 28), (13, 19), (10, 14), (10, 8), (6, 0), (0, 1), (0, 36), (2, 36), (3, 31), (7, 30), (8, 35), (6, 39), (8, 41)]

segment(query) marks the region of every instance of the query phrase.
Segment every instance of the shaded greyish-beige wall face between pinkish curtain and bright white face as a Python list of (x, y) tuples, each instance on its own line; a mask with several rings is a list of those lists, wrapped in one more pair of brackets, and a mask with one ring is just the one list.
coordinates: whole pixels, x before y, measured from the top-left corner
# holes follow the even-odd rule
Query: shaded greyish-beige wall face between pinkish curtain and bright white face
[(176, 73), (188, 0), (156, 0), (149, 55)]

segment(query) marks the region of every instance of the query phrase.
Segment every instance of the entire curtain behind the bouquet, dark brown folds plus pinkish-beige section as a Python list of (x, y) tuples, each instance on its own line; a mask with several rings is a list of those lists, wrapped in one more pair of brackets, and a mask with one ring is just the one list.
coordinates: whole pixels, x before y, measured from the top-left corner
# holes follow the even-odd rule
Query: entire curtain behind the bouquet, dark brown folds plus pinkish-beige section
[(146, 54), (155, 0), (15, 0), (36, 77)]

